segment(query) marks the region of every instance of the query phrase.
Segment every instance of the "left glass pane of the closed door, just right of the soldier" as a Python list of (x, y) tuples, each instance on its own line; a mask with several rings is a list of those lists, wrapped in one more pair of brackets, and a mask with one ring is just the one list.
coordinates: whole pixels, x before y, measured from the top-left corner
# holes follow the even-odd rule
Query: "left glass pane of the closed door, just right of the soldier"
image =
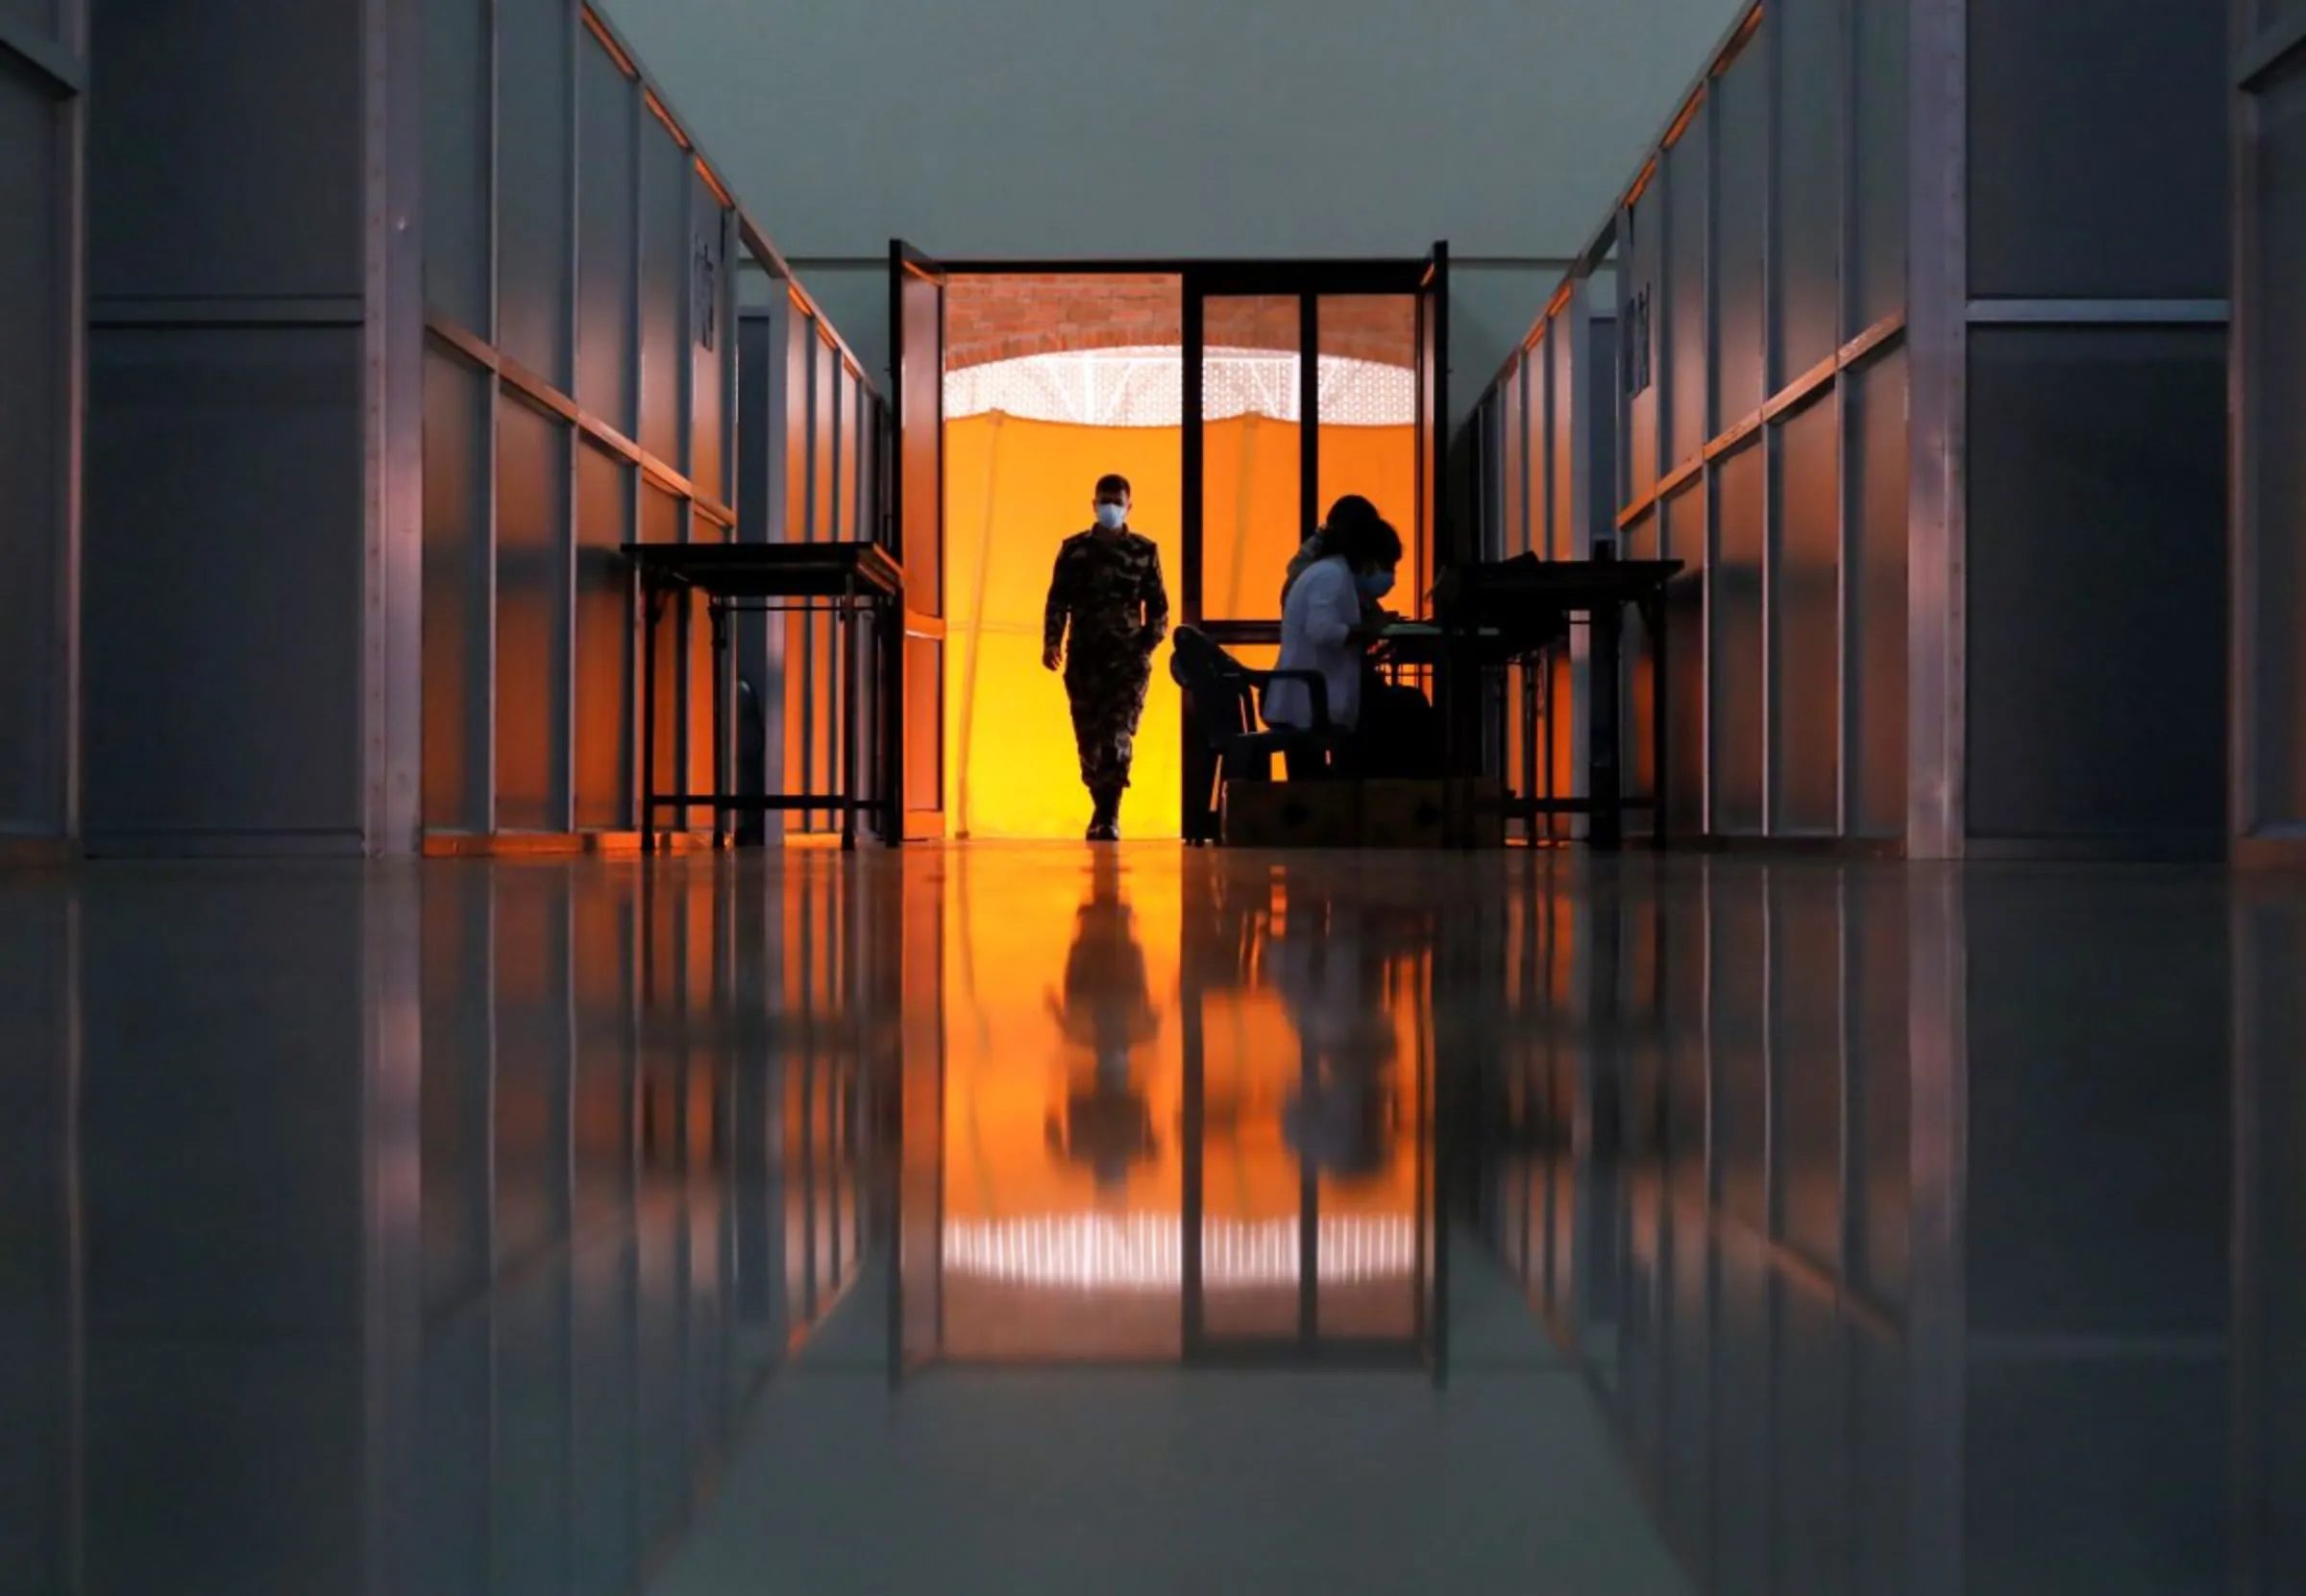
[(1289, 556), (1312, 533), (1301, 503), (1298, 300), (1208, 300), (1201, 344), (1201, 613), (1273, 620)]

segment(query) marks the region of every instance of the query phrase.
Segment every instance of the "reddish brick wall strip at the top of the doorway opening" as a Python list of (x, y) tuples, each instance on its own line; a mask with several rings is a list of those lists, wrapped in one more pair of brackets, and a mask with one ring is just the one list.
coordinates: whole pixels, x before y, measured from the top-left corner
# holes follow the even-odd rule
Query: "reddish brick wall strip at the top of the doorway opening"
[[(1234, 348), (1298, 346), (1294, 302), (1213, 300), (1206, 337)], [(1079, 348), (1169, 348), (1185, 339), (1176, 277), (955, 277), (945, 288), (945, 367)], [(1416, 302), (1321, 302), (1321, 353), (1407, 367), (1416, 355)]]

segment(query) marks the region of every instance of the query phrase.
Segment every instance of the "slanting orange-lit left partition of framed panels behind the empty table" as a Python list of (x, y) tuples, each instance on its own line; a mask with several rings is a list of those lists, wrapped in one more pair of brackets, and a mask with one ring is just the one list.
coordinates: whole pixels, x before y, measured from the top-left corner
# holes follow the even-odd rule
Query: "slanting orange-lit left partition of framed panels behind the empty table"
[[(427, 35), (424, 830), (630, 830), (618, 544), (874, 535), (879, 401), (595, 12), (443, 0)], [(791, 364), (740, 334), (738, 268), (789, 300)], [(743, 429), (740, 387), (777, 397)], [(770, 415), (802, 447), (756, 466)], [(786, 780), (823, 786), (830, 627), (791, 632), (782, 660), (747, 634), (738, 671)], [(660, 789), (724, 786), (701, 613), (657, 667)]]

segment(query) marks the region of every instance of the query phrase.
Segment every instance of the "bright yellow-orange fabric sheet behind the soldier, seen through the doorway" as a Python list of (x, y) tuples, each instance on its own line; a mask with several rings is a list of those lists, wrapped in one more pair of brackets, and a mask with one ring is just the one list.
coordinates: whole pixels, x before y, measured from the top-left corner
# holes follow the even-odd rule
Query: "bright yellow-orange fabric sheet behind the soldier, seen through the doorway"
[[(1280, 618), (1280, 586), (1305, 526), (1298, 521), (1298, 429), (1243, 415), (1204, 427), (1211, 616)], [(1132, 526), (1160, 547), (1171, 616), (1181, 613), (1176, 427), (1072, 427), (1012, 415), (945, 422), (945, 807), (973, 837), (1077, 837), (1088, 819), (1063, 685), (1040, 667), (1049, 565), (1088, 526), (1095, 480), (1118, 470), (1137, 487)], [(1402, 535), (1414, 526), (1411, 427), (1321, 427), (1321, 494), (1365, 494)], [(1174, 837), (1178, 823), (1178, 701), (1169, 655), (1137, 733), (1137, 775), (1123, 816), (1130, 835)]]

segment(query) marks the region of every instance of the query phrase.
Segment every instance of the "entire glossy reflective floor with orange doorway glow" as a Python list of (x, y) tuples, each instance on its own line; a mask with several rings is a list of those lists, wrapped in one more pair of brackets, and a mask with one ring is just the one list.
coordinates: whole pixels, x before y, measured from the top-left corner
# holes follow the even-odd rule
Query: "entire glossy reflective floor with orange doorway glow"
[(0, 876), (0, 1591), (2306, 1591), (2306, 881)]

